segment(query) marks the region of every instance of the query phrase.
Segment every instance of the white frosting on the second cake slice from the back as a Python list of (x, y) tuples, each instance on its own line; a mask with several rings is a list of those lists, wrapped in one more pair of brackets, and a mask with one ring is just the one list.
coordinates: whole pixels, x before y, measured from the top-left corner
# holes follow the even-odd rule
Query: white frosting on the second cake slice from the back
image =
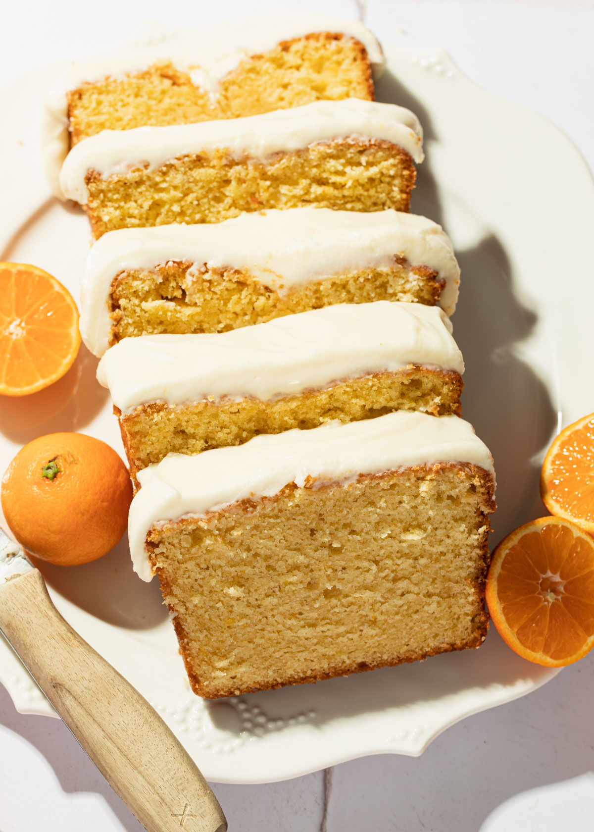
[(67, 199), (86, 205), (88, 171), (124, 175), (131, 167), (158, 167), (194, 153), (225, 150), (236, 159), (260, 161), (282, 151), (299, 151), (333, 139), (390, 141), (423, 161), (423, 131), (410, 110), (359, 98), (312, 102), (260, 116), (199, 121), (166, 127), (104, 130), (79, 141), (66, 157), (60, 188)]

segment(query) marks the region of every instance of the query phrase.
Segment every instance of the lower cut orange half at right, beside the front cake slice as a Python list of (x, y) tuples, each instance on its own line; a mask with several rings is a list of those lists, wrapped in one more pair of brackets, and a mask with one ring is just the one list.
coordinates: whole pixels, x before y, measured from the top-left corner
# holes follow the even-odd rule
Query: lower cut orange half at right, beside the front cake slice
[(581, 659), (594, 646), (594, 540), (562, 518), (520, 526), (493, 552), (487, 604), (503, 641), (528, 661)]

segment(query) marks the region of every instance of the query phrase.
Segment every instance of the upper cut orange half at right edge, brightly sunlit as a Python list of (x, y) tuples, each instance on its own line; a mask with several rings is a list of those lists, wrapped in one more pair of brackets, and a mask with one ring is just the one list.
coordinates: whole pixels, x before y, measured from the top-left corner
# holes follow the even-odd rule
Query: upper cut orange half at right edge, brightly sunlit
[(548, 449), (541, 497), (556, 517), (594, 534), (594, 414), (562, 430)]

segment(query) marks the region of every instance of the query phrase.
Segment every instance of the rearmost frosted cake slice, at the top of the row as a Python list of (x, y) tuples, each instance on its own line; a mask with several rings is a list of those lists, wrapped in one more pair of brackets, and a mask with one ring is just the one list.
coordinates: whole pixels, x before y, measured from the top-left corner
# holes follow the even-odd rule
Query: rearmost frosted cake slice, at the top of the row
[(53, 183), (70, 147), (102, 130), (254, 116), (319, 100), (373, 101), (372, 70), (384, 68), (379, 43), (361, 23), (307, 12), (159, 35), (75, 63), (57, 78), (44, 131)]

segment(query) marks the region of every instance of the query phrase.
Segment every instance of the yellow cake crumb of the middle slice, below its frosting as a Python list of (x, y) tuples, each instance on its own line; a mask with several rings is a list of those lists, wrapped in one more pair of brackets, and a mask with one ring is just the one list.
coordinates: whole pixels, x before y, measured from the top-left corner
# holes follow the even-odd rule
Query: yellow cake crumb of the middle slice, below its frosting
[(394, 257), (368, 268), (293, 286), (283, 293), (240, 270), (191, 269), (170, 261), (158, 270), (121, 272), (111, 284), (111, 344), (151, 334), (216, 333), (336, 304), (402, 300), (438, 304), (444, 280), (427, 266)]

